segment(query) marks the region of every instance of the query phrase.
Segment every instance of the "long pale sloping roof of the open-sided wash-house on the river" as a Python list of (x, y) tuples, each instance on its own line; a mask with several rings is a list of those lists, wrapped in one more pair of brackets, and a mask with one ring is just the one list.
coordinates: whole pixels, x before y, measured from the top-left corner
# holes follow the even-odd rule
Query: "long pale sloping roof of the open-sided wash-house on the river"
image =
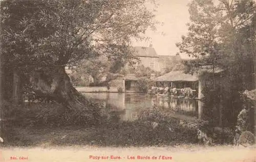
[(155, 78), (154, 81), (158, 82), (170, 82), (170, 81), (198, 81), (198, 77), (195, 75), (185, 74), (184, 71), (173, 71), (167, 74), (164, 74), (158, 78)]

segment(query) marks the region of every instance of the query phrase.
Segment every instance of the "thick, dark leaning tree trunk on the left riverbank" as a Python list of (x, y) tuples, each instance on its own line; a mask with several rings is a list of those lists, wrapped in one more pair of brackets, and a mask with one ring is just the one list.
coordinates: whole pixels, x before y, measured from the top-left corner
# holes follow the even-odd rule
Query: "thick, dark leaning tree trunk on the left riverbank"
[(36, 95), (53, 99), (66, 108), (85, 110), (84, 100), (73, 87), (64, 67), (44, 67), (30, 74), (30, 83)]

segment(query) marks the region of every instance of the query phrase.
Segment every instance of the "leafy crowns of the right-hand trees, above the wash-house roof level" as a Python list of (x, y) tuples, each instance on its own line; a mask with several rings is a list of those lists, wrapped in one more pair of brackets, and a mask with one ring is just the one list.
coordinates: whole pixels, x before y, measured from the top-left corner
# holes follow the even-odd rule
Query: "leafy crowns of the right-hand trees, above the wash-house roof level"
[[(197, 59), (188, 61), (189, 71), (207, 65), (245, 72), (255, 53), (255, 3), (251, 0), (194, 0), (189, 3), (188, 34), (176, 45), (180, 52)], [(232, 70), (231, 70), (232, 69)], [(242, 71), (241, 71), (242, 70)], [(240, 72), (239, 72), (240, 71)], [(249, 73), (252, 73), (251, 70)]]

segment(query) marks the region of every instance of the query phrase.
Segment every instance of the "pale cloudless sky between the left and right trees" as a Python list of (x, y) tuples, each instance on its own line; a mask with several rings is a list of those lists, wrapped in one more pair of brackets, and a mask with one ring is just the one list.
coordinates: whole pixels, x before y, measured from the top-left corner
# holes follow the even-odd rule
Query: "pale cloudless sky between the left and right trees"
[[(189, 1), (157, 0), (159, 6), (155, 13), (156, 20), (163, 25), (157, 25), (156, 32), (146, 32), (146, 36), (151, 37), (151, 42), (134, 42), (134, 45), (148, 47), (152, 44), (158, 55), (176, 55), (179, 50), (175, 43), (181, 41), (181, 36), (188, 32), (186, 23), (189, 22)], [(184, 54), (182, 57), (187, 56)]]

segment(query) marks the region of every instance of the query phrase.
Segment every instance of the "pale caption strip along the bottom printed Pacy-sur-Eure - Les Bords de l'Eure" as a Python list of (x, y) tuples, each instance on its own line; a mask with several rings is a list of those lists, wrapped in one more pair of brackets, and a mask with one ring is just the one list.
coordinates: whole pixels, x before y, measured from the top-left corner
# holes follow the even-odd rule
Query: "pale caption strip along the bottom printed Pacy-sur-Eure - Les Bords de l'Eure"
[[(58, 147), (58, 148), (3, 148), (0, 161), (255, 161), (255, 146), (233, 148), (232, 146), (202, 147), (183, 145), (178, 147)], [(91, 155), (91, 159), (90, 159)], [(120, 156), (121, 159), (110, 159)], [(138, 159), (137, 156), (151, 159)], [(19, 157), (28, 159), (19, 160)], [(93, 157), (94, 156), (94, 157)], [(100, 159), (93, 159), (100, 156)], [(102, 156), (109, 159), (101, 159)], [(155, 156), (157, 159), (152, 159)], [(159, 157), (161, 158), (159, 159)], [(162, 156), (169, 159), (162, 159)], [(10, 159), (16, 157), (17, 160)], [(135, 159), (132, 159), (132, 158)], [(170, 159), (170, 157), (172, 159)], [(4, 159), (3, 159), (4, 158)], [(128, 159), (130, 158), (130, 159)]]

